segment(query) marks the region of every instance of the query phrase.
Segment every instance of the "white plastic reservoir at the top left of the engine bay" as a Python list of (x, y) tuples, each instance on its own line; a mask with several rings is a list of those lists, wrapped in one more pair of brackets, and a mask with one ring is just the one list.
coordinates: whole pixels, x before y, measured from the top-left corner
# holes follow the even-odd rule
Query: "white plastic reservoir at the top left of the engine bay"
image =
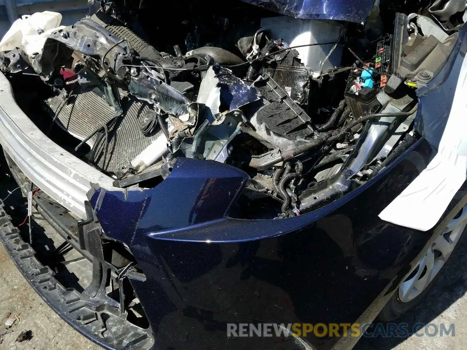
[(62, 15), (57, 12), (37, 12), (32, 15), (24, 15), (14, 21), (7, 34), (0, 42), (0, 51), (10, 51), (21, 48), (28, 56), (42, 53), (45, 41), (59, 27)]

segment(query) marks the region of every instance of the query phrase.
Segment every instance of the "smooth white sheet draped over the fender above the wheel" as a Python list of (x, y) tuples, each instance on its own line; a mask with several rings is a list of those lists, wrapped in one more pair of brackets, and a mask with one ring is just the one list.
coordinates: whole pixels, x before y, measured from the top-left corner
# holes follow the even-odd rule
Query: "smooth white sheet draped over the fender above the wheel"
[(467, 60), (460, 69), (453, 106), (438, 154), (379, 215), (393, 224), (428, 231), (441, 218), (467, 172)]

